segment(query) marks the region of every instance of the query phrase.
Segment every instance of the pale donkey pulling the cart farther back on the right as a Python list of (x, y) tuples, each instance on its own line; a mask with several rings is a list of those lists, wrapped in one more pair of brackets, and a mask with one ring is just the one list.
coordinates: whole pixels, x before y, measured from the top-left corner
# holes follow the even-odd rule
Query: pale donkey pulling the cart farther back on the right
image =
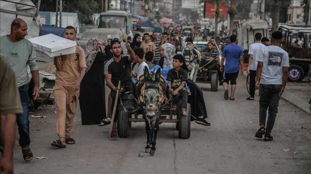
[(195, 48), (195, 45), (193, 46), (186, 46), (182, 50), (182, 54), (185, 58), (185, 63), (187, 65), (187, 68), (189, 69), (189, 79), (192, 81), (196, 81), (196, 75), (198, 73), (198, 70), (200, 68), (201, 63), (201, 53), (199, 50)]

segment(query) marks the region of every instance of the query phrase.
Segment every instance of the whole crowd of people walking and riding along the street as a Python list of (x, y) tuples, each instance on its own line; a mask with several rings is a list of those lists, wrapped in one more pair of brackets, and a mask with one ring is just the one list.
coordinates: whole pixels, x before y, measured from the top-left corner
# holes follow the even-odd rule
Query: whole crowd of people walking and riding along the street
[[(30, 77), (27, 66), (30, 67), (35, 87), (33, 99), (39, 95), (38, 66), (35, 61), (35, 49), (27, 35), (27, 24), (22, 19), (15, 19), (11, 25), (11, 33), (0, 37), (0, 115), (1, 115), (1, 170), (4, 173), (13, 171), (13, 149), (15, 144), (15, 125), (19, 133), (19, 145), (25, 161), (33, 158), (30, 149), (29, 131), (29, 95), (28, 84)], [(76, 31), (73, 27), (65, 28), (64, 37), (75, 40)], [(272, 33), (271, 42), (261, 38), (260, 33), (255, 35), (256, 43), (249, 50), (250, 62), (247, 73), (251, 76), (248, 100), (254, 100), (255, 88), (260, 89), (259, 99), (259, 125), (257, 138), (264, 135), (265, 141), (271, 141), (271, 131), (276, 119), (278, 101), (284, 92), (287, 82), (289, 58), (287, 52), (281, 49), (279, 43), (282, 39), (280, 32)], [(141, 41), (142, 40), (142, 41)], [(230, 36), (231, 44), (225, 46), (223, 59), (215, 49), (215, 39), (211, 38), (204, 54), (212, 57), (219, 66), (220, 81), (223, 83), (225, 100), (235, 100), (236, 79), (239, 72), (243, 74), (243, 51), (236, 45), (236, 35)], [(261, 42), (260, 42), (261, 41)], [(54, 58), (56, 66), (56, 80), (54, 98), (56, 102), (56, 134), (57, 139), (51, 145), (65, 148), (74, 144), (71, 137), (73, 120), (80, 102), (82, 125), (105, 126), (113, 124), (111, 136), (116, 136), (115, 123), (111, 123), (112, 108), (116, 92), (120, 89), (132, 91), (133, 81), (139, 80), (145, 68), (149, 70), (156, 65), (169, 68), (167, 75), (168, 90), (173, 95), (181, 95), (180, 103), (182, 115), (187, 114), (187, 103), (193, 104), (191, 115), (196, 123), (209, 126), (206, 121), (207, 111), (202, 90), (195, 82), (188, 79), (185, 60), (180, 51), (183, 42), (193, 44), (191, 37), (186, 40), (179, 36), (179, 32), (163, 32), (158, 38), (144, 33), (136, 34), (133, 42), (123, 43), (119, 39), (109, 39), (100, 42), (90, 39), (84, 51), (79, 45), (73, 54), (57, 56)], [(271, 44), (271, 45), (270, 45)], [(124, 54), (124, 53), (127, 54)], [(217, 64), (218, 62), (218, 64)], [(224, 74), (224, 75), (223, 75)], [(110, 88), (108, 108), (105, 108), (105, 86)], [(121, 86), (118, 82), (121, 81)], [(229, 82), (231, 95), (228, 96)], [(189, 86), (191, 96), (188, 96), (186, 85)], [(78, 100), (80, 98), (80, 100)], [(269, 117), (266, 124), (266, 112)], [(267, 125), (267, 127), (265, 127)]]

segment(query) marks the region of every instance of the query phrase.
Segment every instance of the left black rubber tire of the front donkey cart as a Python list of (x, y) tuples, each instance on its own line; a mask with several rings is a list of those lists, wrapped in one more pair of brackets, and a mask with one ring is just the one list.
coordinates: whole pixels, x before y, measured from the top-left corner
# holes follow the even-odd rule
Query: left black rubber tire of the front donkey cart
[(117, 129), (120, 138), (127, 138), (129, 136), (130, 122), (128, 112), (124, 110), (119, 111), (119, 117), (117, 120)]

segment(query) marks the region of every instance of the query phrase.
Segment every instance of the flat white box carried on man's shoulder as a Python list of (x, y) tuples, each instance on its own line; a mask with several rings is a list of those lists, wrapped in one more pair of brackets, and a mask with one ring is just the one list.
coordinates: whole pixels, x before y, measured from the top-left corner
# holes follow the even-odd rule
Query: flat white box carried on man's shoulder
[(29, 41), (36, 51), (42, 52), (51, 58), (76, 52), (77, 43), (75, 41), (54, 34), (31, 38)]

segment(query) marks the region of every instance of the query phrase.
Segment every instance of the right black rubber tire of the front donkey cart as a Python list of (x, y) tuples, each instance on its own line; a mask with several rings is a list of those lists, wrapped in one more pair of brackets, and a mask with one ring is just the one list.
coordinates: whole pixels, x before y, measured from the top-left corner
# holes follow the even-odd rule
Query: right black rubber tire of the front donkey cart
[(191, 106), (187, 103), (187, 116), (182, 116), (181, 111), (178, 112), (178, 137), (181, 139), (189, 139), (190, 137), (190, 117)]

